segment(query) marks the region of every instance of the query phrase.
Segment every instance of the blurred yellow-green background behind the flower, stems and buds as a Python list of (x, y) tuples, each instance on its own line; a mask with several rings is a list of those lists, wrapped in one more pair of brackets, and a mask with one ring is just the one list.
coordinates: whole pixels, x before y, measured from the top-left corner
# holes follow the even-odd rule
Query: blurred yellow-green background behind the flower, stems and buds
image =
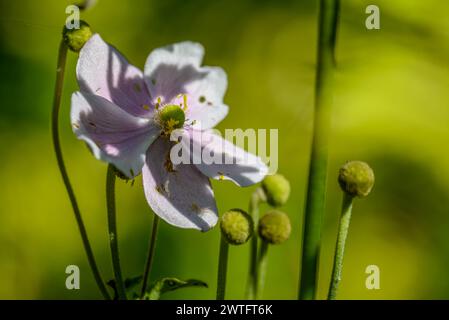
[[(355, 203), (341, 283), (345, 299), (449, 298), (449, 2), (377, 0), (381, 29), (365, 28), (373, 1), (343, 0), (337, 48), (327, 210), (319, 297), (325, 298), (346, 160), (369, 162), (372, 194)], [(148, 53), (181, 40), (201, 42), (205, 64), (228, 73), (225, 128), (278, 128), (279, 171), (292, 184), (283, 208), (291, 239), (270, 249), (264, 298), (295, 299), (310, 150), (318, 1), (99, 0), (82, 14), (96, 32), (142, 68)], [(101, 298), (87, 265), (50, 138), (50, 109), (65, 7), (70, 1), (0, 1), (0, 298)], [(61, 114), (63, 151), (98, 263), (112, 278), (105, 209), (106, 165), (75, 139), (69, 54)], [(221, 212), (247, 208), (253, 188), (213, 183)], [(126, 276), (142, 273), (152, 213), (141, 178), (118, 182), (118, 228)], [(266, 209), (266, 207), (264, 207)], [(209, 289), (168, 299), (213, 299), (219, 230), (162, 223), (152, 279), (199, 278)], [(249, 246), (230, 251), (227, 297), (244, 297)], [(65, 268), (81, 269), (81, 290)], [(365, 268), (380, 267), (380, 290)]]

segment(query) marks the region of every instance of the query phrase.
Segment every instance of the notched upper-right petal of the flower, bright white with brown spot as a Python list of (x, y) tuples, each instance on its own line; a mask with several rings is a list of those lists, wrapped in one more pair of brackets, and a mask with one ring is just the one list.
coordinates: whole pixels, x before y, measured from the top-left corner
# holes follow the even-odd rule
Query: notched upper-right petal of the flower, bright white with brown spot
[(219, 67), (200, 67), (204, 54), (198, 43), (181, 42), (154, 50), (145, 64), (145, 80), (156, 103), (183, 103), (187, 118), (204, 129), (214, 127), (228, 113), (223, 103), (227, 76)]

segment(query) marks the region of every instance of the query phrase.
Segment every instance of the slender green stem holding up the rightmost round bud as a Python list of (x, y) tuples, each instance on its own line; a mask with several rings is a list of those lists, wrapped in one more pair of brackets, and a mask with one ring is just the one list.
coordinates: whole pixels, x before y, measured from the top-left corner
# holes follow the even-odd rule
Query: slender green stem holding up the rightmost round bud
[(340, 284), (341, 271), (343, 269), (346, 238), (348, 237), (349, 223), (351, 221), (352, 199), (353, 197), (347, 193), (343, 194), (343, 204), (341, 208), (340, 225), (338, 228), (337, 246), (335, 247), (334, 267), (332, 269), (328, 300), (335, 300), (337, 297), (338, 285)]

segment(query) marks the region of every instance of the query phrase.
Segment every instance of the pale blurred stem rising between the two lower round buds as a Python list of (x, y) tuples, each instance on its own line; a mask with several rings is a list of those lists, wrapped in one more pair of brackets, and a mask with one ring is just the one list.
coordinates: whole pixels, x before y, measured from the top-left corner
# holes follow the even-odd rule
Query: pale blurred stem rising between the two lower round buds
[(265, 201), (265, 193), (261, 188), (256, 189), (251, 195), (249, 203), (249, 214), (254, 222), (253, 236), (251, 237), (251, 247), (249, 252), (249, 270), (248, 270), (248, 282), (246, 284), (246, 299), (253, 300), (256, 296), (257, 287), (257, 249), (258, 249), (258, 237), (257, 237), (257, 223), (259, 221), (259, 205), (262, 201)]

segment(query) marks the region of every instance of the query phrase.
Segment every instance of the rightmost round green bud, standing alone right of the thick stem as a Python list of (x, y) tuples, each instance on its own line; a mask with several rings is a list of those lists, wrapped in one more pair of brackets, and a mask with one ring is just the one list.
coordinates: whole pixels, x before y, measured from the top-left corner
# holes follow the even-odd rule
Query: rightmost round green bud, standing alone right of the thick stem
[(340, 168), (338, 183), (352, 197), (366, 197), (374, 185), (374, 172), (366, 162), (349, 161)]

